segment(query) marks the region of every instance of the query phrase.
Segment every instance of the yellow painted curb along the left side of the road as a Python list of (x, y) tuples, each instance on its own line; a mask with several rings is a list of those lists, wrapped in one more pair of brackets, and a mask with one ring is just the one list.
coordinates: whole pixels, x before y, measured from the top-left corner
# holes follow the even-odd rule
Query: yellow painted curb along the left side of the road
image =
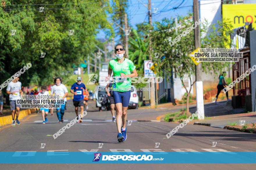
[[(28, 116), (29, 114), (34, 112), (36, 112), (36, 109), (25, 109), (25, 110), (19, 111), (19, 120), (21, 120), (25, 116)], [(2, 116), (0, 117), (0, 126), (10, 125), (12, 123), (12, 120), (13, 120), (12, 115)]]

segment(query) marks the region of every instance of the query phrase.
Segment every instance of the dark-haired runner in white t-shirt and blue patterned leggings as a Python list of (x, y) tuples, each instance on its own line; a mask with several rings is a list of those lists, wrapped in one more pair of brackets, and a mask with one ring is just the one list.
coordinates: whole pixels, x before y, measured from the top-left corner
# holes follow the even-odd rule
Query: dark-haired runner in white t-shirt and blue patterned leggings
[(67, 87), (63, 84), (61, 84), (61, 78), (57, 77), (54, 79), (54, 83), (55, 85), (52, 87), (51, 90), (51, 95), (55, 94), (55, 95), (59, 95), (60, 99), (64, 99), (64, 104), (61, 104), (61, 108), (56, 108), (56, 112), (57, 112), (57, 117), (59, 120), (59, 123), (63, 122), (63, 116), (65, 113), (65, 106), (66, 106), (66, 102), (67, 102)]

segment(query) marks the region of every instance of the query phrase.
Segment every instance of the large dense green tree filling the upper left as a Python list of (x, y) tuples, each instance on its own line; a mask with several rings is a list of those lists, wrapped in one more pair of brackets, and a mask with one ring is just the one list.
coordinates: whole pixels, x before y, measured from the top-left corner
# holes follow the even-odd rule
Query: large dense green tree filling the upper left
[[(43, 12), (39, 12), (41, 6)], [(32, 67), (20, 79), (23, 85), (49, 84), (56, 76), (67, 78), (72, 65), (86, 60), (95, 48), (98, 28), (113, 32), (107, 21), (110, 12), (108, 1), (5, 1), (0, 6), (1, 83), (29, 62)], [(10, 30), (16, 30), (15, 35)], [(69, 30), (74, 34), (69, 35)], [(46, 53), (44, 58), (41, 52)]]

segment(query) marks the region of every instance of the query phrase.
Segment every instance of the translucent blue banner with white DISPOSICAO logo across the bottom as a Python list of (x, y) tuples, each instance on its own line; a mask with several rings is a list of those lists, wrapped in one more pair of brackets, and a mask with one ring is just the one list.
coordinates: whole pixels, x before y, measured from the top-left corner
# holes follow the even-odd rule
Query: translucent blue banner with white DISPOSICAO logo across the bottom
[[(0, 152), (1, 164), (256, 164), (256, 152)], [(81, 159), (82, 158), (82, 159)]]

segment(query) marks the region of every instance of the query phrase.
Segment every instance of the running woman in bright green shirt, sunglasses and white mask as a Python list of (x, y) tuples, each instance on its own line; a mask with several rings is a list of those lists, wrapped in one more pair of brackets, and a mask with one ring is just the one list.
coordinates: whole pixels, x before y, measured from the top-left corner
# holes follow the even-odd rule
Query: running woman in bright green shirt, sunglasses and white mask
[(127, 139), (126, 119), (127, 109), (131, 97), (131, 78), (138, 76), (133, 62), (125, 54), (125, 46), (117, 44), (115, 46), (116, 59), (109, 61), (108, 77), (105, 81), (110, 80), (113, 72), (114, 82), (113, 97), (117, 109), (116, 126), (118, 131), (118, 142), (124, 142)]

